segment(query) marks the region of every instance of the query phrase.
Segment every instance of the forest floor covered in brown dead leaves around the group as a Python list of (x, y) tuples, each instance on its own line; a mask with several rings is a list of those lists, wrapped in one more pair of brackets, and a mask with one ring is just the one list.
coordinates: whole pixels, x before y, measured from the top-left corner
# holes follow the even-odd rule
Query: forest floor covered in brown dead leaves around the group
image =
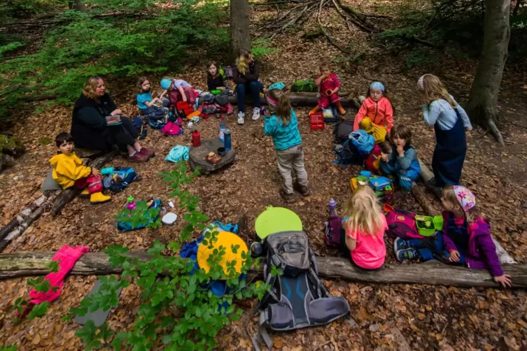
[[(258, 12), (253, 11), (253, 20), (272, 14), (273, 11), (266, 13), (263, 8), (258, 8)], [(340, 41), (375, 50), (368, 46), (369, 36), (358, 29), (350, 32), (335, 9), (323, 10), (323, 22)], [(305, 26), (307, 29), (316, 27), (316, 20), (309, 20)], [(267, 55), (262, 64), (266, 86), (276, 81), (290, 84), (297, 79), (313, 78), (318, 73), (321, 59), (342, 55), (325, 40), (303, 41), (302, 34), (303, 31), (279, 34), (274, 38), (276, 52)], [(178, 77), (204, 89), (204, 63), (198, 62)], [(458, 101), (465, 102), (476, 64), (472, 59), (444, 57), (435, 64), (405, 71), (402, 57), (381, 54), (370, 56), (358, 71), (339, 64), (335, 64), (334, 71), (343, 89), (353, 96), (365, 94), (370, 78), (382, 80), (396, 108), (395, 122), (412, 128), (419, 157), (429, 165), (435, 145), (434, 134), (433, 129), (423, 124), (416, 80), (423, 73), (435, 73)], [(527, 71), (514, 64), (505, 70), (499, 108), (507, 146), (498, 148), (489, 134), (479, 129), (471, 131), (463, 169), (463, 183), (475, 192), (479, 208), (491, 220), (493, 235), (524, 264), (527, 263), (527, 217), (524, 215), (527, 210), (526, 75)], [(108, 80), (106, 84), (124, 113), (135, 115), (133, 83), (126, 85), (128, 83)], [(278, 194), (281, 180), (275, 166), (274, 148), (271, 138), (263, 133), (263, 120), (253, 122), (248, 118), (244, 126), (238, 126), (234, 117), (229, 118), (229, 127), (238, 152), (237, 162), (218, 173), (196, 178), (188, 189), (202, 199), (201, 210), (212, 220), (237, 222), (246, 215), (251, 232), (255, 218), (266, 206), (288, 207), (302, 219), (314, 250), (320, 255), (336, 255), (325, 248), (322, 222), (328, 216), (330, 198), (336, 199), (342, 209), (351, 194), (349, 178), (359, 169), (341, 168), (333, 163), (332, 126), (311, 131), (308, 111), (309, 108), (296, 109), (311, 196), (299, 198), (289, 206), (281, 201)], [(348, 117), (352, 118), (355, 113), (355, 110), (349, 110)], [(0, 224), (8, 222), (41, 195), (39, 189), (49, 169), (48, 159), (56, 149), (53, 143), (41, 145), (38, 139), (42, 136), (53, 139), (60, 131), (69, 130), (71, 107), (55, 106), (23, 118), (13, 132), (22, 138), (28, 150), (13, 168), (0, 174)], [(218, 120), (214, 118), (200, 121), (199, 127), (202, 138), (215, 138), (218, 134)], [(159, 131), (149, 129), (143, 143), (155, 148), (157, 157), (146, 164), (134, 164), (134, 169), (143, 177), (141, 182), (133, 183), (125, 192), (113, 196), (109, 203), (90, 206), (85, 200), (74, 199), (57, 217), (44, 214), (20, 238), (10, 243), (5, 252), (55, 251), (62, 245), (87, 245), (91, 252), (97, 252), (111, 244), (146, 250), (155, 239), (170, 241), (175, 238), (181, 222), (176, 222), (174, 227), (126, 233), (118, 233), (111, 226), (113, 217), (129, 195), (136, 199), (160, 198), (164, 203), (171, 200), (167, 197), (169, 187), (157, 174), (171, 169), (173, 165), (165, 162), (164, 156), (174, 145), (190, 145), (190, 134), (185, 132), (183, 136), (167, 138)], [(120, 158), (112, 162), (112, 166), (125, 165), (127, 163)], [(440, 208), (437, 199), (430, 196), (430, 201), (435, 201), (435, 206)], [(412, 196), (401, 199), (397, 205), (422, 213)], [(254, 236), (244, 239), (250, 244)], [(386, 242), (387, 261), (395, 263), (391, 241)], [(19, 350), (81, 349), (81, 341), (74, 336), (78, 326), (73, 322), (62, 323), (60, 319), (90, 291), (95, 280), (95, 276), (70, 276), (60, 298), (51, 303), (48, 313), (41, 319), (23, 320), (17, 325), (13, 324), (11, 308), (15, 299), (27, 296), (27, 279), (1, 281), (0, 345), (17, 345)], [(323, 327), (274, 333), (276, 350), (527, 348), (527, 293), (523, 290), (375, 285), (341, 280), (327, 282), (327, 285), (332, 294), (344, 296), (349, 301), (356, 322), (341, 319)], [(123, 290), (119, 307), (108, 318), (110, 327), (117, 330), (131, 327), (139, 308), (139, 294), (139, 289), (134, 286)], [(247, 309), (241, 321), (225, 327), (218, 336), (219, 350), (251, 348), (245, 331), (249, 315)], [(252, 320), (251, 331), (254, 332), (255, 327), (256, 322)]]

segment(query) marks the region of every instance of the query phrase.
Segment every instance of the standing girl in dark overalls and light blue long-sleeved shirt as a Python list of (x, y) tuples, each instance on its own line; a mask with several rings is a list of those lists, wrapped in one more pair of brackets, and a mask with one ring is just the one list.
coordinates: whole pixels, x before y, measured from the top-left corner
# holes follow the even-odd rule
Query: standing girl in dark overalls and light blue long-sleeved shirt
[(428, 185), (458, 185), (467, 154), (465, 129), (472, 130), (472, 124), (465, 110), (447, 92), (439, 78), (425, 74), (419, 78), (417, 86), (424, 103), (423, 117), (426, 124), (434, 126), (435, 131), (434, 178)]

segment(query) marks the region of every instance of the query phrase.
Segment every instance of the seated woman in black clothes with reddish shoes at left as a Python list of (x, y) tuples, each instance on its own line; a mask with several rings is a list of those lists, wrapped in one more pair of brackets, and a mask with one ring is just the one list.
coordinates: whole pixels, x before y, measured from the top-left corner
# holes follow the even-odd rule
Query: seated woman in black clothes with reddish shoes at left
[[(107, 118), (110, 116), (113, 118)], [(75, 103), (71, 136), (79, 148), (109, 151), (117, 145), (121, 152), (127, 152), (130, 162), (146, 162), (155, 155), (154, 150), (141, 147), (139, 131), (122, 116), (100, 77), (88, 78)]]

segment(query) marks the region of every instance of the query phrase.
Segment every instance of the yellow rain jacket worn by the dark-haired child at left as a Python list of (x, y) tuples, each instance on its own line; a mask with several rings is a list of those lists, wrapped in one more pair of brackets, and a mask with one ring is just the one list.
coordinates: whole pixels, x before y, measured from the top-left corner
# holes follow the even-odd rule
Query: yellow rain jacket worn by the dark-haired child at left
[(92, 173), (92, 169), (83, 164), (75, 152), (71, 155), (58, 154), (50, 159), (53, 167), (52, 177), (62, 186), (63, 189), (73, 187), (76, 180), (86, 178)]

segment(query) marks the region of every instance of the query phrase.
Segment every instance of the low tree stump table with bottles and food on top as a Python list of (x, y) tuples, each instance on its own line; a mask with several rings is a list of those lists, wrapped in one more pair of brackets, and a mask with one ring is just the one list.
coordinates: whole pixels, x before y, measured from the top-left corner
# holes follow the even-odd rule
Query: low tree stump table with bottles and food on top
[[(236, 157), (236, 150), (231, 148), (227, 151), (225, 156), (222, 156), (220, 161), (216, 164), (211, 164), (211, 162), (206, 160), (206, 155), (209, 155), (209, 152), (214, 152), (218, 154), (218, 148), (223, 148), (223, 141), (220, 141), (219, 138), (213, 138), (209, 140), (202, 140), (202, 145), (196, 147), (191, 147), (190, 152), (188, 153), (188, 163), (190, 164), (190, 169), (194, 171), (197, 166), (200, 167), (199, 173), (209, 174), (213, 171), (218, 171), (218, 169), (223, 169), (223, 167), (228, 166), (234, 162)], [(218, 155), (219, 156), (219, 155)]]

